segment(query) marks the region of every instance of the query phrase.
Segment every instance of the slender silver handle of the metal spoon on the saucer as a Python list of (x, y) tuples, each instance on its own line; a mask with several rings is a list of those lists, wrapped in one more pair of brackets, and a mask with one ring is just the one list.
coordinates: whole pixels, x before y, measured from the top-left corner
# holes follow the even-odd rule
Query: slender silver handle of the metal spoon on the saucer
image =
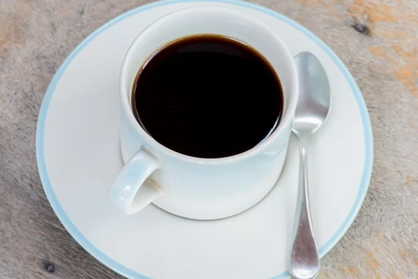
[(312, 229), (311, 210), (308, 192), (308, 142), (309, 138), (300, 137), (299, 182), (293, 244), (288, 267), (289, 274), (295, 279), (311, 279), (319, 272), (319, 258)]

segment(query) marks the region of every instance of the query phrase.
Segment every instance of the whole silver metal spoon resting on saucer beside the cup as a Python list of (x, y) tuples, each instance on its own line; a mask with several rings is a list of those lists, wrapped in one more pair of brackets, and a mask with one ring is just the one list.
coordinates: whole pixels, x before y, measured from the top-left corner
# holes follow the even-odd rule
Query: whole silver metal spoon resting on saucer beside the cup
[(292, 131), (299, 139), (300, 163), (294, 239), (288, 272), (295, 279), (311, 279), (318, 275), (319, 257), (309, 207), (307, 155), (311, 135), (327, 119), (331, 96), (327, 74), (313, 54), (302, 52), (295, 57), (295, 63), (300, 91)]

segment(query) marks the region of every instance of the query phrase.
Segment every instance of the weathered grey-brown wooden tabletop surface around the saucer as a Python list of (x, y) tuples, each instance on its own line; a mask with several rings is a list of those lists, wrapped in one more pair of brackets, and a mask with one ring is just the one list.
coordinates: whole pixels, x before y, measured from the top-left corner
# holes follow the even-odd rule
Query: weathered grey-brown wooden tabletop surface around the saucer
[[(145, 2), (0, 0), (0, 278), (121, 278), (84, 251), (49, 206), (36, 167), (36, 119), (65, 56), (94, 29)], [(318, 277), (418, 278), (416, 1), (256, 3), (330, 45), (355, 77), (371, 116), (369, 193)]]

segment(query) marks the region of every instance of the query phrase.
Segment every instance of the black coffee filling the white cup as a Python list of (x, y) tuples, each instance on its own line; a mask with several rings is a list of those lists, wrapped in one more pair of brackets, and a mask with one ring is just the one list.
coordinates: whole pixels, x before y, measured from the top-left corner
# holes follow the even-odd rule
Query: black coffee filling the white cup
[(245, 152), (268, 137), (283, 110), (277, 75), (231, 38), (182, 38), (155, 52), (135, 82), (132, 110), (160, 144), (199, 158)]

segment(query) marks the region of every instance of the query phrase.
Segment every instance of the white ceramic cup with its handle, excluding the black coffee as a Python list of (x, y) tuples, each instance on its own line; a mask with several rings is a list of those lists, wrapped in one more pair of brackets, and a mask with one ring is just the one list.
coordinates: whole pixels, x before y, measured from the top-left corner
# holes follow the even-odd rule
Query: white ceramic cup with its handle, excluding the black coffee
[[(208, 33), (235, 38), (258, 50), (270, 61), (284, 93), (284, 113), (274, 133), (253, 149), (227, 158), (194, 158), (162, 146), (141, 128), (130, 105), (135, 77), (155, 50), (178, 38)], [(213, 6), (169, 13), (134, 40), (123, 61), (120, 85), (125, 166), (109, 190), (109, 199), (123, 213), (135, 213), (152, 202), (185, 218), (225, 218), (249, 209), (276, 183), (286, 159), (298, 82), (291, 53), (262, 22)]]

